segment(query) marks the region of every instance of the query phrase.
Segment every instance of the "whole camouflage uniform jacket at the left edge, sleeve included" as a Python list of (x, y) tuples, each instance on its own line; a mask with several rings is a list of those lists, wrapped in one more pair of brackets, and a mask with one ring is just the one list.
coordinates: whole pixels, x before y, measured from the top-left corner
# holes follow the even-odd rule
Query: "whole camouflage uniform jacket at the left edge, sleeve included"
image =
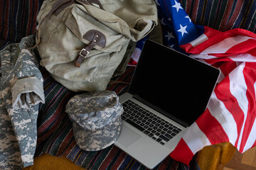
[(0, 52), (0, 169), (33, 164), (38, 103), (44, 102), (43, 77), (33, 50), (34, 36)]

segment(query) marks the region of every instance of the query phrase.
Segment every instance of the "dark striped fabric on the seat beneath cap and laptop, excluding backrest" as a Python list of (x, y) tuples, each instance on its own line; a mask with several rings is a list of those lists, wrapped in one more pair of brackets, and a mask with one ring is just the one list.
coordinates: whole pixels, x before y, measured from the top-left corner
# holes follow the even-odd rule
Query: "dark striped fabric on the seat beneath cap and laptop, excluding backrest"
[[(41, 68), (44, 78), (44, 91), (46, 103), (39, 108), (38, 115), (38, 143), (36, 156), (42, 153), (54, 156), (68, 157), (86, 169), (146, 169), (125, 152), (114, 145), (98, 152), (86, 152), (78, 147), (73, 136), (72, 123), (65, 113), (65, 106), (75, 94), (56, 82), (45, 68)], [(120, 77), (113, 81), (129, 83), (132, 79), (134, 67), (128, 67)], [(127, 84), (110, 84), (108, 90), (116, 91), (121, 95), (127, 91)], [(167, 157), (155, 169), (199, 169), (196, 157), (191, 162), (191, 167), (174, 161)]]

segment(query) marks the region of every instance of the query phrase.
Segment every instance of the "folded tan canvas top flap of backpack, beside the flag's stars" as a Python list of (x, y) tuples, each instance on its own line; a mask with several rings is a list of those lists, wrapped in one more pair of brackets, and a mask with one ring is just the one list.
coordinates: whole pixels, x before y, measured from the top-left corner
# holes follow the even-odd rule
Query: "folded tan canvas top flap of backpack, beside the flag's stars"
[(90, 16), (131, 38), (144, 38), (157, 25), (157, 9), (153, 0), (99, 0), (101, 8), (82, 4)]

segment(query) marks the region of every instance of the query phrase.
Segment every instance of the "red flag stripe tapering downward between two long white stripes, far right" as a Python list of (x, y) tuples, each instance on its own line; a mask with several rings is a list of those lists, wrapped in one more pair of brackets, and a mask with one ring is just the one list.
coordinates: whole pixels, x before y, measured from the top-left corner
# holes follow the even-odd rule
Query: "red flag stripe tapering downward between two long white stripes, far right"
[[(240, 106), (238, 105), (238, 100), (231, 94), (229, 87), (230, 87), (230, 79), (229, 77), (225, 77), (225, 79), (223, 79), (223, 81), (221, 81), (220, 84), (218, 84), (215, 87), (214, 91), (217, 98), (220, 101), (223, 101), (225, 108), (227, 108), (228, 111), (233, 115), (235, 123), (237, 124), (237, 127), (238, 127), (238, 138), (239, 138), (245, 115), (242, 112), (242, 109), (240, 108)], [(238, 139), (235, 142), (235, 147), (237, 146), (238, 146)]]

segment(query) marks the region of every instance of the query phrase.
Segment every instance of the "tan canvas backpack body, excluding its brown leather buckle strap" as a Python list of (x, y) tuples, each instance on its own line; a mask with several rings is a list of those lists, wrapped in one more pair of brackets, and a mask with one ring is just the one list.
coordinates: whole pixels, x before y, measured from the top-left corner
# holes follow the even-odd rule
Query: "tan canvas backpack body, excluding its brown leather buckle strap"
[[(41, 65), (73, 91), (105, 90), (130, 40), (136, 42), (157, 25), (153, 0), (100, 0), (103, 9), (79, 0), (47, 16), (60, 1), (44, 1), (38, 13), (38, 52)], [(105, 46), (95, 45), (80, 67), (75, 67), (82, 48), (91, 43), (83, 38), (89, 30), (100, 31)]]

